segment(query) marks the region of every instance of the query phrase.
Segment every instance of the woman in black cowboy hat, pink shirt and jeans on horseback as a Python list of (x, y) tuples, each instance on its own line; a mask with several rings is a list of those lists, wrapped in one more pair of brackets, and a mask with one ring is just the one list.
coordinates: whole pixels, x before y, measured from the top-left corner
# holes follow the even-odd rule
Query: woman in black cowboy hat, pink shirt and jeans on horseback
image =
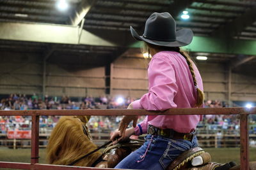
[[(179, 46), (191, 43), (193, 32), (176, 32), (170, 13), (153, 13), (147, 19), (143, 36), (131, 27), (132, 36), (144, 41), (152, 60), (148, 65), (148, 93), (132, 102), (128, 109), (167, 110), (201, 107), (204, 101), (202, 78), (189, 56)], [(145, 143), (122, 160), (116, 168), (166, 169), (182, 152), (198, 146), (195, 136), (200, 115), (148, 115), (136, 125), (138, 116), (124, 116), (114, 139), (146, 134)], [(132, 122), (131, 128), (127, 126)]]

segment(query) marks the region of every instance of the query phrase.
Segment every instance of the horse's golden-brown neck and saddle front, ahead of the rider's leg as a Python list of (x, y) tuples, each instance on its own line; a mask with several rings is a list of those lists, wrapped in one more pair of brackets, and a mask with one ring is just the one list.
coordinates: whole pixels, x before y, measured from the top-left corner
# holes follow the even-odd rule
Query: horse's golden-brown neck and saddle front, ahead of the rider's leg
[[(97, 146), (92, 143), (90, 132), (86, 127), (89, 119), (90, 117), (60, 118), (47, 145), (47, 161), (49, 164), (115, 167), (132, 150), (137, 149), (142, 144), (131, 141), (128, 145), (109, 145), (104, 154), (99, 151), (93, 152)], [(90, 152), (93, 153), (81, 159)], [(77, 161), (78, 159), (81, 160)]]

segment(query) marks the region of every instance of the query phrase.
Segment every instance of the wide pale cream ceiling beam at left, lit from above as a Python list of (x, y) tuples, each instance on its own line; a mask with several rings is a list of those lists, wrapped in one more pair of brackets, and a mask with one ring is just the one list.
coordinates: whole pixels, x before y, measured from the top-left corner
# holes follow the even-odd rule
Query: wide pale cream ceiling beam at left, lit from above
[[(79, 27), (51, 24), (0, 22), (0, 39), (42, 43), (78, 44)], [(80, 44), (116, 46), (89, 31), (82, 31)]]

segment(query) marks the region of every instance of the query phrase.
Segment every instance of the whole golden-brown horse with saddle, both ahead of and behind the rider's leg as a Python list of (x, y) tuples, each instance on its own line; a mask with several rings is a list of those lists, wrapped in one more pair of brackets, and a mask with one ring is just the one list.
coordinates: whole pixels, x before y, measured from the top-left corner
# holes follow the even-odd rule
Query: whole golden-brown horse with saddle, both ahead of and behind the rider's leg
[[(97, 148), (92, 143), (90, 132), (86, 127), (86, 123), (90, 117), (61, 117), (56, 127), (54, 127), (49, 143), (47, 145), (47, 160), (49, 164), (70, 165), (75, 160), (83, 157), (86, 153), (90, 153)], [(111, 147), (110, 147), (111, 148)], [(138, 145), (137, 145), (138, 148)], [(110, 149), (109, 149), (110, 150)], [(124, 147), (118, 148), (115, 152), (109, 152), (102, 156), (102, 152), (94, 152), (92, 155), (79, 160), (74, 166), (85, 167), (115, 167), (120, 160), (131, 153), (131, 149)], [(205, 159), (204, 150), (202, 148), (193, 148), (187, 152), (182, 153), (172, 164), (169, 169), (193, 169), (193, 170), (207, 170), (207, 169), (230, 169), (229, 164), (218, 164), (215, 162), (205, 162), (202, 166), (192, 167), (191, 160), (198, 155)], [(209, 155), (209, 154), (208, 154)], [(100, 162), (99, 160), (108, 160)], [(98, 162), (100, 162), (98, 164)], [(232, 170), (239, 170), (240, 166), (234, 166)], [(256, 162), (250, 162), (250, 169), (256, 170)]]

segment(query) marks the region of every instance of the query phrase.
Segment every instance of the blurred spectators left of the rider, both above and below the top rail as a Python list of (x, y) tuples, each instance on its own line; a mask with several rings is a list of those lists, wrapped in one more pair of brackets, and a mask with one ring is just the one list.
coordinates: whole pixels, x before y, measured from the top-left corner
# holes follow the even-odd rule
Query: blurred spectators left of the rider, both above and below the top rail
[[(67, 96), (63, 97), (40, 97), (36, 94), (26, 96), (25, 94), (10, 94), (0, 99), (0, 110), (86, 110), (86, 109), (125, 109), (134, 101), (130, 97), (87, 96), (78, 101), (72, 101)], [(40, 127), (54, 127), (60, 117), (40, 117)], [(89, 125), (100, 131), (100, 129), (114, 129), (120, 122), (121, 117), (92, 117)], [(6, 133), (6, 129), (22, 129), (31, 126), (31, 117), (0, 117), (0, 133)]]

